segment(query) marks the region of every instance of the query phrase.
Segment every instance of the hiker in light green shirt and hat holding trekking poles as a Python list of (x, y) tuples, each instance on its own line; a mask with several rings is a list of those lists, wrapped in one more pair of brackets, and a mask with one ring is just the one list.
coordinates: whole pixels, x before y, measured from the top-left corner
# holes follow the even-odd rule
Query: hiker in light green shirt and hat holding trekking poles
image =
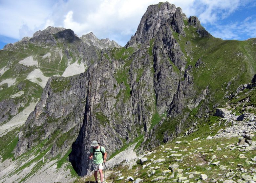
[(103, 183), (103, 162), (106, 162), (107, 153), (104, 147), (100, 146), (97, 141), (93, 141), (91, 144), (90, 159), (93, 159), (94, 178), (95, 183), (98, 183), (98, 171), (100, 177), (100, 183)]

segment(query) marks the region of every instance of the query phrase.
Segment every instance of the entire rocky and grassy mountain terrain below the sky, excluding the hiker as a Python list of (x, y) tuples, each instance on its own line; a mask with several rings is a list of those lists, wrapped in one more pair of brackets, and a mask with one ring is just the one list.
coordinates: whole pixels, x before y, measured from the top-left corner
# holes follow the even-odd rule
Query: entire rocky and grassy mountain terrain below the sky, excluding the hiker
[(168, 2), (120, 47), (48, 27), (0, 50), (0, 182), (255, 182), (256, 39)]

